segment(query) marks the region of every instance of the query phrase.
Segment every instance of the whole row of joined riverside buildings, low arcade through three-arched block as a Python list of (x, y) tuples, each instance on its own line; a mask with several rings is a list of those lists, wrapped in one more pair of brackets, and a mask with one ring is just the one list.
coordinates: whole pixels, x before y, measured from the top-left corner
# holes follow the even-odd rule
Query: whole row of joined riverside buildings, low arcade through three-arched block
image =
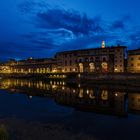
[(72, 50), (56, 53), (54, 58), (10, 60), (0, 66), (1, 73), (76, 73), (124, 72), (125, 46)]

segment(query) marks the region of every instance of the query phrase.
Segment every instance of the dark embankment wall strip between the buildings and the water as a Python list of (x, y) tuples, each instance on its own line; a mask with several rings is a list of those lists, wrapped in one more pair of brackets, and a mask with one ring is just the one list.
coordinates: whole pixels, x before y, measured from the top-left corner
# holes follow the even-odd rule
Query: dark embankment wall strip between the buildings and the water
[(63, 80), (69, 84), (112, 84), (140, 86), (140, 73), (51, 73), (51, 74), (0, 74), (2, 78), (34, 80)]

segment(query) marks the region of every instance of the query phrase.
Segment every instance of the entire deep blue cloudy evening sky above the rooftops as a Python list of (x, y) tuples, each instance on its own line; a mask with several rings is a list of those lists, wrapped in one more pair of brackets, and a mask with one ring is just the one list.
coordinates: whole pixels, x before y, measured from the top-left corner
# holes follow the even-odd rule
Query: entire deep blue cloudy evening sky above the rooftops
[(0, 0), (0, 60), (140, 47), (140, 0)]

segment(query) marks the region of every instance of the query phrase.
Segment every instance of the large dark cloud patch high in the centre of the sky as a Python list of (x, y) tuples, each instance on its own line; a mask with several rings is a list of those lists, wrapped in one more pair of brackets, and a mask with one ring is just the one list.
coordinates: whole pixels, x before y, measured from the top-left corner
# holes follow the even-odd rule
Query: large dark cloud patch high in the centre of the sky
[(86, 14), (66, 11), (62, 9), (48, 9), (37, 14), (37, 26), (44, 29), (64, 28), (75, 35), (88, 35), (90, 32), (100, 32), (102, 27), (94, 19), (89, 19)]

